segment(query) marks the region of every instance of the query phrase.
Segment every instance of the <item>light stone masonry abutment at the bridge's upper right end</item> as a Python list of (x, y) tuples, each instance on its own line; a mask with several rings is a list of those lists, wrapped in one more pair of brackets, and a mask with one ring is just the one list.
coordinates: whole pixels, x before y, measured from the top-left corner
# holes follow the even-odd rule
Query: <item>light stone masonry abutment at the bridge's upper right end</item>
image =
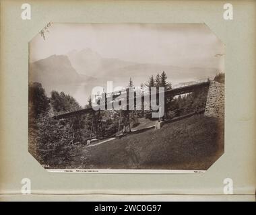
[(225, 114), (225, 85), (211, 81), (207, 101), (205, 105), (205, 116), (224, 118)]

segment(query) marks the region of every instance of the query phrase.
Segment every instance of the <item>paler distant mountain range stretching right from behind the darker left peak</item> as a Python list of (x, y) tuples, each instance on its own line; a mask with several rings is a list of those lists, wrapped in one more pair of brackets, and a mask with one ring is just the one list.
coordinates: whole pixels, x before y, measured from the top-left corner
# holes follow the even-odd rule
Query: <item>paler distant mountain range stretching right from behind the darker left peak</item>
[[(77, 73), (95, 77), (98, 81), (117, 81), (118, 85), (126, 86), (129, 78), (134, 79), (136, 85), (148, 81), (148, 77), (165, 71), (169, 81), (196, 81), (215, 76), (217, 69), (200, 67), (174, 67), (164, 64), (138, 63), (120, 60), (118, 58), (104, 58), (86, 48), (80, 51), (72, 50), (67, 53), (72, 66)], [(184, 63), (185, 64), (185, 63)]]

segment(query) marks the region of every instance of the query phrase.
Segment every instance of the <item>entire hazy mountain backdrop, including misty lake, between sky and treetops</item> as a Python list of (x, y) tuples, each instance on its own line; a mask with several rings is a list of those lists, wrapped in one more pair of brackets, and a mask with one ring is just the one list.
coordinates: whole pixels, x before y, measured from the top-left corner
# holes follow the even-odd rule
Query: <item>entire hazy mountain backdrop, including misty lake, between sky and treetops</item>
[[(185, 64), (185, 63), (184, 63)], [(172, 85), (214, 77), (214, 68), (187, 68), (171, 65), (138, 63), (104, 58), (89, 48), (72, 50), (66, 55), (52, 55), (29, 64), (29, 80), (42, 83), (47, 95), (53, 90), (64, 91), (85, 105), (92, 89), (101, 86), (106, 89), (107, 81), (113, 87), (127, 87), (130, 77), (135, 86), (146, 83), (151, 75), (166, 72)], [(113, 89), (115, 90), (115, 89)]]

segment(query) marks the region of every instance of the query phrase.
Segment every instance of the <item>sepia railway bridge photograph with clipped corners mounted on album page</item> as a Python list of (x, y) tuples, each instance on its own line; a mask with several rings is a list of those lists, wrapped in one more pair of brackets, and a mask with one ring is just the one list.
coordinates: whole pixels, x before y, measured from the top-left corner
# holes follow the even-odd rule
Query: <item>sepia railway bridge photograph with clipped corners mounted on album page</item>
[(224, 154), (207, 25), (49, 22), (28, 46), (28, 151), (48, 171), (203, 173)]

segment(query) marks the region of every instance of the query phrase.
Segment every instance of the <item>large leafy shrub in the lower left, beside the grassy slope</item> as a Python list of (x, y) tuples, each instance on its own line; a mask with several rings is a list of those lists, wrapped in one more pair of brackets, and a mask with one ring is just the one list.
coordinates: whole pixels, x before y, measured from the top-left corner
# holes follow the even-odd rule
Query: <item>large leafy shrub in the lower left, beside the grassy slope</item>
[(65, 167), (75, 158), (79, 142), (74, 142), (75, 135), (67, 120), (55, 120), (49, 115), (41, 114), (37, 121), (37, 159), (51, 168)]

